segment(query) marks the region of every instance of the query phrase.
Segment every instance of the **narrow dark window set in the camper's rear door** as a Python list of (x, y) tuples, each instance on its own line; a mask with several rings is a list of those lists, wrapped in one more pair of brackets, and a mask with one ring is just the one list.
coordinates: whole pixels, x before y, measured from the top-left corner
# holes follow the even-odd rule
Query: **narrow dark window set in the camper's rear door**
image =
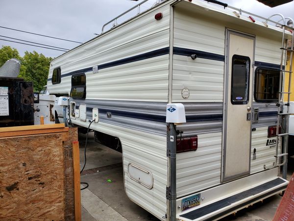
[(249, 101), (250, 58), (241, 55), (232, 57), (231, 103), (247, 104)]

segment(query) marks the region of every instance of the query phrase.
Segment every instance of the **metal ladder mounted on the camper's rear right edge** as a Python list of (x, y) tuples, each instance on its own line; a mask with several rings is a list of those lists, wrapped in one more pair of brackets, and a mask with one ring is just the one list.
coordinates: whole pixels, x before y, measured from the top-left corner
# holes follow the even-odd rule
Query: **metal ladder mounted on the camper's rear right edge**
[[(281, 62), (280, 62), (280, 79), (279, 79), (279, 92), (278, 92), (278, 102), (276, 103), (276, 106), (278, 108), (278, 117), (277, 117), (277, 126), (276, 126), (276, 144), (275, 144), (275, 162), (273, 163), (273, 166), (268, 167), (264, 165), (265, 169), (271, 169), (275, 166), (283, 166), (283, 178), (286, 179), (287, 177), (287, 160), (288, 160), (288, 136), (289, 136), (289, 116), (290, 116), (290, 95), (291, 95), (291, 80), (292, 80), (292, 61), (293, 61), (293, 46), (294, 46), (294, 28), (287, 26), (286, 21), (291, 21), (293, 24), (292, 18), (284, 18), (281, 14), (274, 14), (268, 18), (268, 20), (273, 16), (280, 16), (282, 19), (282, 47), (281, 50)], [(280, 22), (279, 21), (279, 22)], [(287, 42), (285, 41), (285, 31), (290, 30), (292, 32), (292, 43), (290, 49), (287, 47)], [(287, 62), (287, 52), (290, 52), (290, 65), (289, 65), (289, 71), (286, 71), (286, 62)], [(284, 66), (284, 69), (283, 69)], [(283, 80), (285, 79), (285, 74), (289, 74), (289, 84), (288, 84), (288, 91), (284, 92), (283, 89)], [(281, 102), (284, 99), (284, 94), (287, 96), (286, 102)], [(287, 106), (287, 111), (281, 113), (283, 111), (283, 106)], [(282, 119), (281, 119), (282, 118)], [(284, 127), (283, 132), (280, 133), (280, 125), (282, 123), (282, 120), (284, 121)], [(278, 148), (278, 140), (282, 142), (283, 138), (283, 151), (282, 153), (279, 153)], [(283, 160), (281, 160), (283, 159)]]

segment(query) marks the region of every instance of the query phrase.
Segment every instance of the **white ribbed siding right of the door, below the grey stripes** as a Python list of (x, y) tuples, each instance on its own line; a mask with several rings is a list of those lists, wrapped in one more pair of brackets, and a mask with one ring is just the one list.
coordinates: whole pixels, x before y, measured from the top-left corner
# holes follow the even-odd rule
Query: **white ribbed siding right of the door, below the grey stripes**
[[(268, 139), (268, 127), (259, 127), (256, 128), (256, 131), (252, 131), (250, 166), (251, 174), (263, 171), (264, 165), (271, 167), (272, 164), (275, 162), (275, 148), (270, 148), (270, 145), (266, 145)], [(256, 149), (255, 160), (253, 160), (254, 148)]]

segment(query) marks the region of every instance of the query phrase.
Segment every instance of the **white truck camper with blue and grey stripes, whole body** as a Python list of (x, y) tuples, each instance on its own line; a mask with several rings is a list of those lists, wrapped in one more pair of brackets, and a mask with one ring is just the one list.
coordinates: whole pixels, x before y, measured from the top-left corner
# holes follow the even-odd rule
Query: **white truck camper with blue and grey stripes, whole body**
[(204, 0), (118, 18), (52, 60), (48, 90), (122, 152), (127, 196), (162, 221), (202, 221), (284, 191), (293, 20)]

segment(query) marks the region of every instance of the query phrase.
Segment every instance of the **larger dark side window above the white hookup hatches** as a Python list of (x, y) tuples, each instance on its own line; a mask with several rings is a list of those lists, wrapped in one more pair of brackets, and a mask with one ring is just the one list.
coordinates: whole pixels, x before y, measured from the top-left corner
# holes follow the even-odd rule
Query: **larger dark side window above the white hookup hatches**
[(86, 75), (84, 73), (72, 76), (72, 89), (70, 96), (72, 98), (86, 98)]

